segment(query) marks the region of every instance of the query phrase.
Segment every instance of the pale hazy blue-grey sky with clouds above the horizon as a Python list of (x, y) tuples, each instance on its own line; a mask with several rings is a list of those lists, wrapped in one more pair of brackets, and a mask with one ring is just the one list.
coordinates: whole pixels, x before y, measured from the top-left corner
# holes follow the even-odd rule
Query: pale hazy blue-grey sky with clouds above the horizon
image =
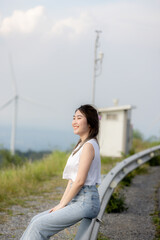
[[(71, 130), (75, 109), (92, 103), (95, 30), (96, 107), (130, 104), (133, 128), (160, 137), (159, 0), (1, 0), (0, 106), (16, 81), (18, 127)], [(0, 111), (0, 126), (12, 113)]]

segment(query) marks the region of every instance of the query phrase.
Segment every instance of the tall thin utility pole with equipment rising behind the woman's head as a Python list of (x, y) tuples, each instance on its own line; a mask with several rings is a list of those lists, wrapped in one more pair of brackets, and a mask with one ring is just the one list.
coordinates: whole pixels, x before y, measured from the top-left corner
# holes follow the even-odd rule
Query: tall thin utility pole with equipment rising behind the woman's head
[[(96, 30), (96, 41), (95, 41), (95, 52), (94, 52), (94, 71), (93, 71), (93, 86), (92, 86), (92, 104), (95, 104), (95, 89), (96, 89), (96, 78), (101, 74), (102, 72), (102, 61), (104, 54), (102, 52), (99, 52), (99, 55), (97, 54), (98, 48), (100, 47), (99, 44), (99, 35), (102, 33), (102, 31)], [(98, 56), (97, 56), (98, 55)]]

